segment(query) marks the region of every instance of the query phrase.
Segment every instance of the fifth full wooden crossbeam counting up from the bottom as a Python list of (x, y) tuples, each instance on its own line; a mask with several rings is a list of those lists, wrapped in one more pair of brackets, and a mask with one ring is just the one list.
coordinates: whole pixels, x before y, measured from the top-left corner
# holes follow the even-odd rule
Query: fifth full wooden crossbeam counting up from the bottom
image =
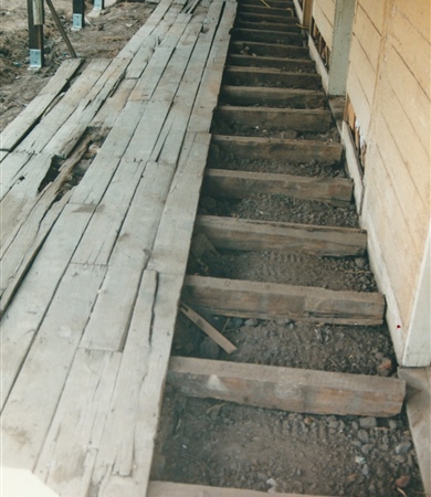
[(280, 138), (254, 138), (246, 136), (214, 135), (212, 144), (227, 154), (238, 154), (250, 159), (293, 160), (320, 163), (338, 162), (341, 158), (340, 144), (325, 144), (316, 140), (287, 140)]

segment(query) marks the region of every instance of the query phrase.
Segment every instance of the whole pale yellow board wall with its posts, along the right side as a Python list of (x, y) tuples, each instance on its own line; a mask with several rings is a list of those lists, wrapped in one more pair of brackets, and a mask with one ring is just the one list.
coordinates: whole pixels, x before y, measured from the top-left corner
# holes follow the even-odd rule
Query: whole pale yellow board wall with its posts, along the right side
[[(340, 18), (346, 4), (350, 33)], [(313, 23), (330, 53), (325, 65), (311, 36), (325, 91), (347, 97), (347, 166), (398, 360), (428, 366), (430, 2), (314, 0)]]

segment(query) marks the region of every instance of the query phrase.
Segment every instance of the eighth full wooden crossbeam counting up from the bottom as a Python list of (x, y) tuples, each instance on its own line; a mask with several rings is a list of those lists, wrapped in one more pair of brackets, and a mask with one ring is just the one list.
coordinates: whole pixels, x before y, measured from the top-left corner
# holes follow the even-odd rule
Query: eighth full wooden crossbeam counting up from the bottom
[(224, 71), (224, 81), (228, 84), (260, 86), (261, 84), (296, 86), (306, 89), (319, 89), (320, 76), (314, 73), (290, 73), (270, 67), (234, 67), (228, 66)]

